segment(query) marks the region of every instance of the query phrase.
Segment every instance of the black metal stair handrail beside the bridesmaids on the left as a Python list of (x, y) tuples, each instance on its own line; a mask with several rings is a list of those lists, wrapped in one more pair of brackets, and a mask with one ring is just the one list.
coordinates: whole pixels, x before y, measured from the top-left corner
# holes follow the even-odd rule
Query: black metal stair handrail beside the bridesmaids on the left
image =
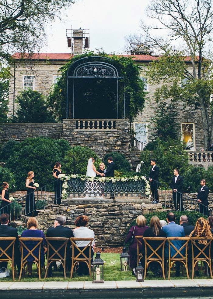
[[(32, 200), (32, 206), (27, 210), (26, 208), (26, 197), (27, 195), (21, 196), (12, 203), (0, 209), (0, 215), (7, 212), (10, 215), (10, 222), (19, 220), (24, 216), (36, 216), (37, 210), (45, 210), (49, 203), (53, 203), (55, 200), (54, 189), (57, 188), (57, 184), (61, 183), (61, 180), (54, 180), (42, 187), (32, 191), (28, 196), (35, 195), (35, 202)], [(55, 186), (54, 186), (55, 184)]]

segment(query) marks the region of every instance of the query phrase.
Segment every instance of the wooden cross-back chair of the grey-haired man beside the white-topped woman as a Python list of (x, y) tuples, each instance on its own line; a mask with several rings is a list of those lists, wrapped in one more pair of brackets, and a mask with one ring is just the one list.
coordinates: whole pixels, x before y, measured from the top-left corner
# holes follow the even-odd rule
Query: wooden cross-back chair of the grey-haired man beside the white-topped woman
[[(47, 241), (47, 267), (44, 278), (47, 277), (48, 268), (50, 266), (52, 267), (52, 263), (59, 261), (64, 269), (64, 278), (66, 279), (66, 250), (69, 238), (46, 237), (45, 239)], [(58, 242), (58, 249), (54, 247), (55, 242)], [(53, 251), (51, 256), (49, 256), (50, 251)], [(61, 251), (61, 253), (59, 253), (59, 251)]]

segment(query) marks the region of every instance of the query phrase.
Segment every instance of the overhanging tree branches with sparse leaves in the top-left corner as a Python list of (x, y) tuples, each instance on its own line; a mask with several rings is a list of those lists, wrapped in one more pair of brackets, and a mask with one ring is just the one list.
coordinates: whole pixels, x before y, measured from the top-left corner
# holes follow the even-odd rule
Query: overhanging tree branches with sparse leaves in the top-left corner
[(0, 57), (10, 52), (32, 53), (45, 40), (48, 21), (60, 16), (73, 0), (2, 0), (0, 2)]

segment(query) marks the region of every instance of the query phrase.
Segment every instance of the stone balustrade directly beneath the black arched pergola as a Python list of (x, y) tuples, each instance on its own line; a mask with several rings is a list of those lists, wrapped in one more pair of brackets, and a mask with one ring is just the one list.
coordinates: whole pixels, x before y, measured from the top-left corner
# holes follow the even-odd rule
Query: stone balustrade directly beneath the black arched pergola
[(100, 130), (114, 130), (116, 129), (116, 120), (76, 120), (76, 129), (100, 129)]

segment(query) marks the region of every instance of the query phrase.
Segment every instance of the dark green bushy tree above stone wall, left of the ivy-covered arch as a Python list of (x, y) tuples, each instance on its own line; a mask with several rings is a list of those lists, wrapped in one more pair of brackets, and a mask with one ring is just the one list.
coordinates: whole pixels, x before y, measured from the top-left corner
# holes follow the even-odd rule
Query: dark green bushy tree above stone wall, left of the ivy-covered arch
[(44, 95), (38, 91), (25, 90), (17, 96), (19, 104), (13, 122), (19, 123), (47, 123), (55, 122), (48, 110)]

